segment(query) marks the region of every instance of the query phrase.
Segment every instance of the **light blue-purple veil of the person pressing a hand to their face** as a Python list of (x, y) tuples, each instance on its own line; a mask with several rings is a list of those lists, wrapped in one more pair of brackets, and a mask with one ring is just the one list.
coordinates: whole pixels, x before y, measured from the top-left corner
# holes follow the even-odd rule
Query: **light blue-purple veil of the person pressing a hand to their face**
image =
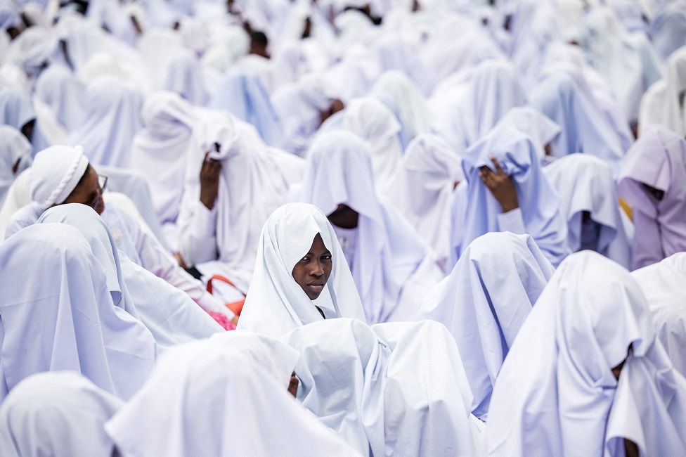
[(538, 155), (531, 139), (507, 126), (496, 127), (471, 146), (462, 160), (468, 191), (462, 194), (468, 205), (463, 225), (453, 226), (458, 240), (458, 257), (472, 240), (491, 231), (500, 231), (500, 205), (479, 178), (481, 167), (493, 169), (490, 157), (496, 157), (503, 171), (517, 188), (519, 210), (524, 226), (545, 257), (553, 265), (568, 254), (567, 222), (559, 212), (559, 197), (538, 165)]

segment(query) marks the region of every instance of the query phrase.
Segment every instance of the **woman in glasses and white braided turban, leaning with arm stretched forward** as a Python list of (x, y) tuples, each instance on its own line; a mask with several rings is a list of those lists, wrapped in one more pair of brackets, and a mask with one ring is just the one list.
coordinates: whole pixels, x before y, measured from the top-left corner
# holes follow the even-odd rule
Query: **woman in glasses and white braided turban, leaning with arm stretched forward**
[(35, 224), (49, 207), (64, 203), (81, 203), (101, 214), (113, 233), (117, 247), (132, 261), (167, 283), (183, 290), (200, 307), (226, 327), (236, 321), (235, 315), (222, 302), (209, 295), (200, 281), (179, 266), (139, 221), (113, 205), (105, 208), (103, 190), (107, 180), (98, 176), (84, 156), (82, 148), (51, 146), (36, 155), (28, 170), (28, 188), (33, 202), (13, 214), (5, 233), (12, 236), (21, 228)]

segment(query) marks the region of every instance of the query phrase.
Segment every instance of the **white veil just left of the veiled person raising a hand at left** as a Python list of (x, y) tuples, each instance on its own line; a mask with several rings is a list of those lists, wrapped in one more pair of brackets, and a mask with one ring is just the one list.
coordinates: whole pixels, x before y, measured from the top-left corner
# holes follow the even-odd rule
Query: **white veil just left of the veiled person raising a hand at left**
[(155, 212), (164, 224), (176, 221), (193, 124), (193, 107), (171, 92), (155, 92), (143, 105), (145, 128), (131, 145), (131, 167), (148, 177)]

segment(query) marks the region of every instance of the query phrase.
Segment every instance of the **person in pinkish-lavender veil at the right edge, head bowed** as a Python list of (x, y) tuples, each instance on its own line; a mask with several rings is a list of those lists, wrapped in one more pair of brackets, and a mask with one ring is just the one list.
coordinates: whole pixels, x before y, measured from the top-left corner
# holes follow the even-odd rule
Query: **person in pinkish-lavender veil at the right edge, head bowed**
[(624, 157), (617, 191), (631, 207), (633, 269), (686, 250), (686, 141), (665, 127), (645, 129)]

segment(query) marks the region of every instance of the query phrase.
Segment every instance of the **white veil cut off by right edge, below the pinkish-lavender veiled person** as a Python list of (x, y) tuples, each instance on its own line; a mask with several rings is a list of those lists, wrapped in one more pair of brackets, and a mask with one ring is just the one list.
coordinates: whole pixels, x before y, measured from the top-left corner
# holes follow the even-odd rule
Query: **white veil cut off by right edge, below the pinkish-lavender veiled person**
[(686, 252), (634, 270), (631, 276), (640, 285), (652, 311), (658, 340), (674, 368), (686, 376)]

